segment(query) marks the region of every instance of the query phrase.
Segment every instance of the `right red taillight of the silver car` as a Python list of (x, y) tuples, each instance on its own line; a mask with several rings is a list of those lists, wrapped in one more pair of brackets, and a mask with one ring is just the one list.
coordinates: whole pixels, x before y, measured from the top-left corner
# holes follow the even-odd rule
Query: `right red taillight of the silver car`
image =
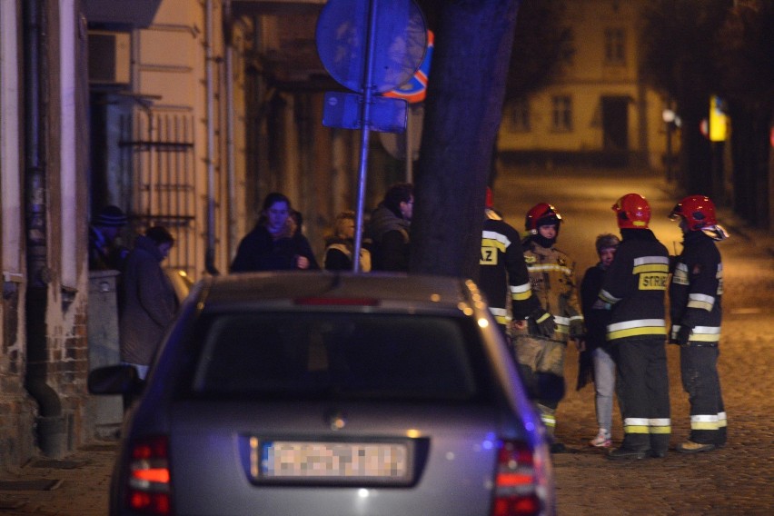
[(537, 487), (531, 447), (521, 441), (501, 442), (491, 516), (540, 514), (542, 502)]

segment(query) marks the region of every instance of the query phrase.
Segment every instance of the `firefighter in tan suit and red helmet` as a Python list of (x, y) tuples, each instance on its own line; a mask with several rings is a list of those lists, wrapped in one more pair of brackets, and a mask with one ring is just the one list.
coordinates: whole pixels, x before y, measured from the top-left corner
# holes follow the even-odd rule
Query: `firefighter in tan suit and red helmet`
[[(583, 316), (575, 283), (575, 263), (554, 247), (561, 228), (559, 211), (549, 203), (534, 205), (525, 220), (522, 242), (530, 273), (531, 311), (527, 327), (516, 332), (516, 358), (521, 376), (535, 399), (551, 437), (556, 409), (564, 397), (564, 357), (567, 343), (583, 334)], [(563, 452), (553, 442), (551, 452)]]

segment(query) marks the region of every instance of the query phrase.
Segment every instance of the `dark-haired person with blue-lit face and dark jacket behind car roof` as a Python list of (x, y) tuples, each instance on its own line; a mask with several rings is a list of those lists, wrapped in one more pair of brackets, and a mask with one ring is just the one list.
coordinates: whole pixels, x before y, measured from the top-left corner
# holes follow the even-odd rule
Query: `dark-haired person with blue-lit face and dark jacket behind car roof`
[(309, 241), (288, 223), (291, 211), (282, 193), (266, 195), (258, 223), (239, 243), (232, 273), (320, 269)]

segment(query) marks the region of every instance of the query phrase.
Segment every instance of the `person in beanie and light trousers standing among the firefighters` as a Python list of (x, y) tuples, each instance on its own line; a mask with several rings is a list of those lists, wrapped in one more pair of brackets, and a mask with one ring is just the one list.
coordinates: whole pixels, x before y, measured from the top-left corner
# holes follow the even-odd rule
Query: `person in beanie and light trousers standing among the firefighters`
[(615, 392), (615, 362), (605, 339), (606, 328), (610, 323), (610, 307), (607, 303), (602, 303), (598, 294), (619, 244), (620, 239), (616, 235), (600, 234), (594, 243), (600, 261), (583, 274), (581, 281), (581, 308), (586, 334), (578, 355), (576, 388), (581, 390), (588, 382), (594, 382), (594, 409), (599, 432), (589, 444), (597, 448), (610, 448)]

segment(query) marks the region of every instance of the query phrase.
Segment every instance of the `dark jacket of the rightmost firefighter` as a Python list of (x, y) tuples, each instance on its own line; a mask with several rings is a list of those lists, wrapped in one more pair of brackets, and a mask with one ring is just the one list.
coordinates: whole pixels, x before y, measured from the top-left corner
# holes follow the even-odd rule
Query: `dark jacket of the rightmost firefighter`
[(723, 263), (715, 242), (700, 231), (686, 233), (670, 283), (672, 338), (680, 326), (692, 328), (690, 342), (720, 340)]

